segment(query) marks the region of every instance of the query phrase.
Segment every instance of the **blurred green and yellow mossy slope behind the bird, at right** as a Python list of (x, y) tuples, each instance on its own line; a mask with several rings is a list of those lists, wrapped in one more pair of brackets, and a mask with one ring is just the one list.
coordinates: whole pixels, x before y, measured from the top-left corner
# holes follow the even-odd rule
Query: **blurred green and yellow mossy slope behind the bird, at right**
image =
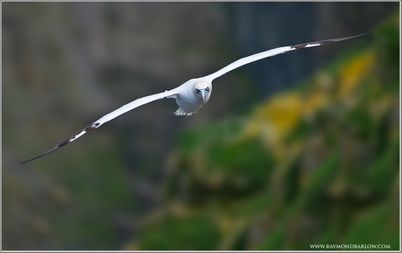
[(399, 249), (399, 13), (242, 118), (188, 129), (124, 249)]

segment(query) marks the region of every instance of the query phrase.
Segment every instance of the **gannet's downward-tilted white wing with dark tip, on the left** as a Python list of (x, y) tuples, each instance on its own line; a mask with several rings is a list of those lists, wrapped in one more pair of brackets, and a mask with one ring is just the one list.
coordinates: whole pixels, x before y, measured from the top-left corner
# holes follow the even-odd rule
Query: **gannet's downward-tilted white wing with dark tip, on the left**
[(158, 93), (158, 94), (154, 94), (154, 95), (150, 95), (144, 98), (140, 98), (137, 100), (134, 100), (133, 102), (128, 103), (127, 105), (124, 105), (122, 107), (120, 107), (119, 109), (103, 116), (102, 118), (98, 119), (97, 121), (93, 122), (92, 124), (90, 124), (89, 126), (79, 130), (78, 132), (76, 132), (74, 135), (65, 138), (64, 140), (60, 141), (58, 144), (54, 145), (53, 147), (49, 148), (48, 150), (46, 150), (45, 152), (41, 153), (40, 155), (37, 155), (31, 159), (25, 160), (25, 161), (21, 161), (20, 164), (24, 164), (27, 163), (29, 161), (38, 159), (39, 157), (42, 157), (44, 155), (47, 155), (48, 153), (53, 152), (54, 150), (70, 143), (71, 141), (76, 140), (78, 137), (82, 136), (83, 134), (98, 128), (99, 126), (101, 126), (102, 124), (122, 115), (123, 113), (126, 113), (130, 110), (133, 110), (134, 108), (137, 108), (139, 106), (145, 105), (147, 103), (150, 103), (152, 101), (158, 100), (158, 99), (163, 99), (163, 98), (168, 98), (168, 97), (172, 97), (175, 96), (178, 92), (179, 88), (175, 88), (173, 90), (170, 91), (166, 91), (166, 92), (162, 92), (162, 93)]

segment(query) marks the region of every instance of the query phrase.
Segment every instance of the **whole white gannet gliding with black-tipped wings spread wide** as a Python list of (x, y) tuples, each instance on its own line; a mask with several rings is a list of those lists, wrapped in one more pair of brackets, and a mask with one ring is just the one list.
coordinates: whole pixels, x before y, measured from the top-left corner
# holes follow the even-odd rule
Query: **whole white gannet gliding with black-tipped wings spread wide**
[(152, 101), (158, 100), (158, 99), (164, 99), (164, 98), (173, 98), (176, 99), (176, 103), (179, 106), (177, 111), (174, 113), (174, 115), (177, 116), (183, 116), (187, 115), (190, 116), (193, 113), (196, 113), (197, 110), (199, 110), (204, 104), (206, 104), (212, 93), (212, 81), (216, 79), (219, 76), (222, 76), (223, 74), (238, 68), (240, 66), (243, 66), (245, 64), (248, 64), (253, 61), (257, 61), (266, 57), (271, 57), (274, 55), (278, 54), (283, 54), (289, 51), (297, 50), (297, 49), (302, 49), (302, 48), (307, 48), (307, 47), (316, 47), (316, 46), (321, 46), (324, 44), (329, 44), (333, 42), (338, 42), (338, 41), (343, 41), (343, 40), (348, 40), (348, 39), (353, 39), (356, 37), (363, 36), (367, 33), (361, 34), (361, 35), (356, 35), (356, 36), (350, 36), (350, 37), (345, 37), (345, 38), (338, 38), (338, 39), (330, 39), (330, 40), (321, 40), (317, 42), (308, 42), (304, 44), (298, 44), (294, 46), (285, 46), (285, 47), (278, 47), (274, 48), (271, 50), (267, 50), (261, 53), (256, 53), (244, 58), (241, 58), (226, 67), (218, 70), (215, 73), (212, 73), (210, 75), (204, 76), (204, 77), (199, 77), (199, 78), (194, 78), (190, 79), (186, 82), (184, 82), (182, 85), (179, 87), (172, 89), (170, 91), (165, 91), (162, 93), (150, 95), (147, 97), (143, 97), (140, 99), (136, 99), (133, 102), (128, 103), (127, 105), (122, 106), (121, 108), (103, 116), (102, 118), (98, 119), (97, 121), (93, 122), (89, 126), (81, 129), (74, 135), (65, 138), (55, 146), (49, 148), (45, 152), (41, 153), (40, 155), (37, 155), (31, 159), (25, 160), (20, 162), (21, 164), (26, 163), (28, 161), (32, 161), (34, 159), (37, 159), (41, 156), (44, 156), (50, 152), (53, 152), (54, 150), (74, 141), (75, 139), (79, 138), (86, 132), (89, 132), (95, 128), (98, 128), (99, 126), (103, 125), (104, 123), (130, 111), (133, 110), (139, 106), (145, 105), (147, 103), (150, 103)]

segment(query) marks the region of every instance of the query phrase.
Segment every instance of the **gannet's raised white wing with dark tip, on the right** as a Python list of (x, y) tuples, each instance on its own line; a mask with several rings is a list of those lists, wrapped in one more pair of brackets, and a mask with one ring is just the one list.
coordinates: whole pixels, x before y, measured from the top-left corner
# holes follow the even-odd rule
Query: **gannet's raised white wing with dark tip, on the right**
[(350, 36), (350, 37), (345, 37), (345, 38), (338, 38), (338, 39), (330, 39), (330, 40), (320, 40), (320, 41), (316, 41), (316, 42), (308, 42), (308, 43), (303, 43), (303, 44), (298, 44), (298, 45), (294, 45), (294, 46), (286, 46), (286, 47), (278, 47), (278, 48), (274, 48), (268, 51), (264, 51), (261, 53), (257, 53), (257, 54), (253, 54), (244, 58), (241, 58), (229, 65), (227, 65), (226, 67), (222, 68), (221, 70), (207, 75), (204, 78), (209, 80), (210, 82), (212, 82), (212, 80), (214, 80), (215, 78), (226, 74), (227, 72), (238, 68), (240, 66), (246, 65), (250, 62), (253, 61), (257, 61), (257, 60), (261, 60), (263, 58), (266, 57), (271, 57), (271, 56), (275, 56), (278, 54), (283, 54), (289, 51), (293, 51), (293, 50), (297, 50), (297, 49), (301, 49), (301, 48), (306, 48), (306, 47), (317, 47), (317, 46), (321, 46), (324, 44), (329, 44), (329, 43), (333, 43), (333, 42), (338, 42), (338, 41), (343, 41), (343, 40), (349, 40), (349, 39), (353, 39), (353, 38), (357, 38), (363, 35), (366, 35), (370, 32), (364, 33), (364, 34), (360, 34), (360, 35), (355, 35), (355, 36)]

